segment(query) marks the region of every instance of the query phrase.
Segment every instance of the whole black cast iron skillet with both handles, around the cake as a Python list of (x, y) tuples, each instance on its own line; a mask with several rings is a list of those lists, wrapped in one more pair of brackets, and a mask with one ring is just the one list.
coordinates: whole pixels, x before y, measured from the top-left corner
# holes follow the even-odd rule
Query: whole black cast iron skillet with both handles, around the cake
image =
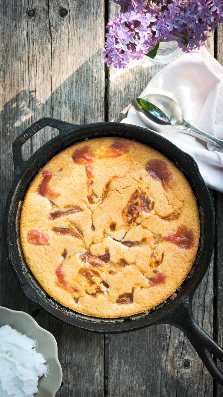
[[(22, 145), (43, 127), (59, 129), (59, 135), (38, 149), (27, 161), (21, 154)], [(174, 299), (168, 299), (148, 313), (119, 319), (100, 319), (76, 313), (54, 301), (37, 283), (25, 262), (19, 241), (21, 203), (30, 182), (40, 168), (53, 156), (76, 142), (97, 137), (135, 139), (151, 146), (168, 157), (182, 170), (196, 197), (200, 214), (200, 241), (198, 253), (189, 276)], [(95, 123), (74, 125), (65, 121), (42, 118), (26, 129), (13, 143), (14, 181), (6, 204), (4, 238), (12, 270), (25, 297), (57, 320), (81, 330), (118, 333), (137, 330), (154, 324), (171, 324), (180, 328), (190, 339), (198, 355), (213, 378), (223, 385), (223, 373), (212, 355), (223, 361), (223, 350), (196, 324), (192, 313), (194, 291), (210, 263), (214, 243), (214, 212), (208, 189), (193, 158), (162, 136), (148, 129), (121, 124)]]

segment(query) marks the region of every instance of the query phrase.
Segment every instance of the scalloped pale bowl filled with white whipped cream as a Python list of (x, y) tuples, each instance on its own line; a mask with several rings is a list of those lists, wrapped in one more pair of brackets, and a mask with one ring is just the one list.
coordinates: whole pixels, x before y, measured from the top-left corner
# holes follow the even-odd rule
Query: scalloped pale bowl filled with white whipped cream
[(0, 396), (54, 397), (61, 381), (53, 335), (29, 314), (0, 306)]

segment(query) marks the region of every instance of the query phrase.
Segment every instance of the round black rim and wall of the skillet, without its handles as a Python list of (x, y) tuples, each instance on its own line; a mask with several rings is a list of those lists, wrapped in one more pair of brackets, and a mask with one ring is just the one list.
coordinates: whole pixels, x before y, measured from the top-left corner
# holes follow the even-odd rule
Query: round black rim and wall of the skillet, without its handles
[[(61, 122), (61, 121), (55, 120), (55, 122), (58, 122), (58, 125), (59, 125), (59, 122)], [(62, 123), (65, 123), (65, 122), (62, 122)], [(19, 282), (22, 292), (31, 303), (36, 304), (36, 306), (40, 307), (42, 310), (44, 310), (47, 314), (49, 314), (53, 318), (59, 320), (60, 322), (69, 324), (71, 326), (74, 326), (76, 328), (79, 328), (79, 329), (85, 330), (85, 331), (93, 331), (93, 332), (99, 332), (99, 333), (119, 333), (119, 332), (125, 332), (125, 331), (133, 331), (133, 330), (144, 328), (146, 326), (156, 324), (156, 323), (162, 323), (162, 322), (164, 322), (165, 316), (167, 316), (170, 312), (172, 312), (172, 310), (177, 308), (177, 306), (179, 305), (179, 303), (182, 301), (183, 298), (185, 298), (188, 295), (191, 295), (191, 296), (193, 295), (193, 293), (196, 290), (196, 288), (198, 287), (200, 281), (204, 277), (204, 274), (206, 273), (206, 270), (208, 268), (208, 265), (210, 263), (210, 259), (212, 256), (213, 243), (214, 243), (213, 206), (212, 206), (212, 200), (210, 198), (210, 194), (208, 192), (208, 188), (206, 187), (206, 184), (204, 183), (204, 180), (203, 180), (202, 176), (200, 175), (198, 166), (189, 154), (187, 154), (187, 153), (183, 152), (182, 150), (180, 150), (179, 148), (177, 148), (177, 146), (173, 145), (166, 138), (158, 135), (157, 133), (154, 133), (153, 131), (149, 131), (148, 129), (145, 129), (142, 127), (123, 124), (123, 123), (93, 123), (93, 124), (88, 124), (88, 125), (74, 125), (74, 124), (72, 125), (70, 123), (67, 123), (67, 125), (69, 125), (70, 132), (61, 133), (57, 137), (48, 141), (48, 143), (46, 143), (40, 149), (38, 149), (30, 157), (30, 159), (26, 162), (27, 166), (23, 170), (23, 174), (21, 175), (21, 177), (19, 177), (18, 180), (14, 180), (14, 182), (13, 182), (13, 185), (11, 187), (11, 191), (8, 196), (7, 203), (6, 203), (6, 212), (5, 212), (5, 218), (4, 218), (4, 239), (5, 239), (6, 250), (7, 250), (8, 259), (10, 261), (11, 268), (15, 274), (17, 281)], [(100, 131), (99, 131), (99, 133), (92, 133), (92, 130), (94, 130), (94, 129), (97, 130), (100, 127), (103, 129), (103, 133)], [(107, 129), (110, 129), (112, 131), (106, 131)], [(118, 129), (118, 131), (116, 131), (117, 129)], [(29, 187), (31, 180), (38, 173), (40, 168), (42, 168), (42, 166), (44, 164), (46, 164), (46, 162), (48, 162), (51, 158), (53, 158), (57, 153), (62, 151), (60, 148), (59, 150), (57, 150), (56, 152), (54, 151), (53, 154), (51, 154), (52, 150), (49, 150), (49, 146), (50, 146), (50, 148), (53, 148), (53, 145), (55, 145), (56, 142), (57, 143), (62, 142), (62, 143), (64, 143), (64, 145), (63, 145), (63, 150), (64, 150), (65, 148), (74, 145), (76, 142), (83, 141), (85, 139), (85, 137), (78, 139), (78, 137), (76, 136), (77, 134), (80, 135), (81, 133), (85, 133), (85, 134), (87, 133), (89, 139), (94, 138), (94, 137), (102, 137), (102, 136), (114, 136), (114, 137), (122, 136), (123, 137), (123, 133), (119, 132), (120, 129), (122, 131), (124, 129), (128, 129), (128, 133), (124, 134), (125, 138), (135, 139), (136, 141), (144, 143), (147, 146), (154, 147), (156, 150), (162, 152), (166, 157), (170, 158), (170, 160), (176, 164), (176, 162), (173, 160), (173, 157), (168, 156), (168, 153), (166, 153), (166, 149), (160, 150), (160, 148), (157, 148), (156, 144), (153, 144), (156, 141), (160, 142), (164, 146), (167, 146), (168, 150), (170, 150), (170, 151), (172, 150), (173, 152), (176, 152), (178, 154), (178, 156), (182, 157), (182, 159), (184, 159), (186, 161), (187, 165), (189, 165), (188, 168), (190, 168), (193, 171), (193, 174), (194, 174), (193, 179), (195, 182), (195, 185), (191, 186), (191, 187), (194, 191), (197, 189), (196, 183), (198, 183), (198, 185), (200, 185), (201, 190), (203, 190), (202, 194), (204, 195), (203, 199), (200, 201), (203, 202), (203, 200), (205, 198), (206, 209), (209, 210), (209, 214), (208, 214), (209, 224), (206, 224), (206, 226), (208, 227), (208, 233), (210, 233), (210, 234), (209, 234), (208, 239), (207, 239), (207, 237), (205, 238), (205, 236), (204, 236), (204, 239), (206, 240), (206, 243), (208, 244), (209, 249), (208, 250), (206, 249), (206, 251), (208, 251), (208, 252), (206, 252), (206, 254), (204, 256), (204, 254), (203, 254), (204, 244), (202, 245), (202, 250), (201, 250), (201, 253), (199, 254), (200, 258), (198, 260), (196, 258), (196, 260), (195, 260), (195, 262), (198, 262), (196, 264), (196, 269), (194, 270), (194, 265), (193, 265), (192, 270), (189, 273), (189, 276), (187, 276), (186, 280), (183, 282), (182, 288), (180, 289), (179, 293), (177, 293), (177, 297), (175, 299), (173, 299), (173, 300), (168, 299), (168, 301), (165, 304), (161, 304), (160, 306), (158, 306), (158, 308), (156, 310), (151, 310), (148, 314), (139, 314), (139, 315), (125, 317), (122, 319), (120, 319), (120, 318), (119, 319), (100, 319), (100, 318), (95, 318), (95, 317), (91, 317), (91, 316), (85, 316), (85, 315), (79, 314), (77, 312), (73, 312), (72, 310), (65, 309), (64, 306), (55, 303), (55, 301), (53, 301), (50, 297), (48, 297), (48, 299), (46, 300), (46, 297), (44, 297), (44, 295), (41, 295), (38, 292), (38, 290), (32, 283), (31, 279), (29, 279), (29, 281), (27, 282), (27, 279), (30, 276), (26, 273), (26, 277), (25, 277), (25, 273), (22, 270), (22, 266), (21, 266), (22, 261), (21, 261), (21, 257), (19, 255), (18, 249), (17, 249), (17, 258), (15, 258), (15, 257), (12, 258), (12, 256), (15, 253), (13, 253), (10, 249), (10, 233), (14, 233), (14, 237), (15, 237), (16, 231), (15, 231), (15, 229), (11, 230), (13, 225), (11, 224), (11, 222), (8, 222), (8, 220), (10, 218), (10, 206), (13, 201), (12, 199), (15, 197), (16, 190), (17, 190), (19, 184), (21, 183), (21, 181), (24, 179), (24, 175), (31, 168), (31, 165), (35, 163), (35, 160), (36, 160), (36, 158), (38, 158), (39, 154), (42, 154), (42, 158), (43, 158), (43, 154), (46, 154), (46, 150), (48, 151), (48, 153), (50, 153), (50, 155), (47, 156), (47, 159), (44, 158), (44, 160), (41, 161), (42, 165), (40, 167), (38, 167), (38, 170), (33, 172), (32, 177), (31, 177), (29, 183), (27, 184), (27, 187), (25, 187), (25, 192), (27, 191), (27, 188)], [(104, 132), (104, 131), (106, 131), (106, 132)], [(137, 131), (138, 131), (138, 133), (140, 133), (140, 132), (144, 133), (145, 136), (151, 138), (151, 141), (153, 139), (153, 143), (147, 142), (147, 139), (142, 139), (141, 137), (131, 136), (131, 131), (133, 131), (133, 133), (135, 133), (135, 135), (136, 135)], [(72, 143), (70, 142), (71, 140), (72, 140)], [(65, 145), (65, 143), (67, 143), (67, 144)], [(182, 160), (182, 163), (183, 163), (183, 160)], [(178, 166), (178, 168), (180, 168), (180, 167)], [(185, 175), (186, 178), (190, 179), (190, 178), (188, 178), (187, 172), (185, 172), (185, 170), (183, 170), (183, 173), (184, 174), (186, 173), (186, 175)], [(190, 185), (191, 185), (191, 183), (190, 183)], [(194, 192), (194, 193), (196, 193), (196, 192)], [(25, 193), (24, 193), (24, 196), (25, 196)], [(197, 197), (197, 194), (195, 194), (195, 196)], [(200, 193), (199, 197), (201, 197), (201, 196), (202, 195)], [(206, 216), (207, 216), (207, 214), (205, 214), (205, 217)], [(205, 218), (204, 218), (204, 223), (205, 223)], [(202, 258), (202, 256), (204, 256), (204, 258)], [(194, 277), (193, 273), (196, 273), (197, 266), (200, 263), (201, 258), (203, 259), (202, 266), (200, 267), (200, 269), (198, 269), (198, 276)], [(15, 261), (17, 263), (14, 265)], [(52, 300), (54, 306), (57, 306), (56, 308), (54, 307), (53, 310), (52, 310), (52, 306), (50, 305), (50, 303), (48, 303), (49, 300)]]

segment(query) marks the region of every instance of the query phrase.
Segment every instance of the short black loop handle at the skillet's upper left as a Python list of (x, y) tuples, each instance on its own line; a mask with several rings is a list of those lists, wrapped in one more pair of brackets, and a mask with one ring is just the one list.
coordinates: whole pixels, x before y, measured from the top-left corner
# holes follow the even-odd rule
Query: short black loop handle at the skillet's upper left
[(27, 161), (23, 160), (22, 157), (22, 146), (25, 142), (27, 142), (33, 135), (35, 135), (40, 129), (44, 127), (54, 127), (57, 128), (60, 134), (65, 134), (76, 129), (79, 129), (79, 125), (75, 125), (72, 123), (67, 123), (66, 121), (53, 119), (51, 117), (43, 117), (39, 119), (30, 127), (28, 127), (21, 135), (19, 135), (15, 141), (13, 142), (12, 151), (13, 151), (13, 164), (14, 164), (14, 178), (19, 177), (27, 164)]

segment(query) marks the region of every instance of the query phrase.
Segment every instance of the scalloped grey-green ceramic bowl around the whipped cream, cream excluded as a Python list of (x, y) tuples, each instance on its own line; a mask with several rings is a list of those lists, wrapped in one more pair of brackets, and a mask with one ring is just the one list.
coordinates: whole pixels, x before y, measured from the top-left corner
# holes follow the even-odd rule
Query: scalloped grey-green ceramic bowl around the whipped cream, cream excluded
[(36, 350), (42, 353), (49, 366), (48, 375), (42, 376), (38, 382), (36, 397), (54, 397), (62, 382), (62, 369), (57, 357), (57, 342), (55, 337), (41, 328), (27, 313), (7, 309), (0, 306), (0, 327), (10, 325), (11, 328), (25, 333), (38, 342)]

